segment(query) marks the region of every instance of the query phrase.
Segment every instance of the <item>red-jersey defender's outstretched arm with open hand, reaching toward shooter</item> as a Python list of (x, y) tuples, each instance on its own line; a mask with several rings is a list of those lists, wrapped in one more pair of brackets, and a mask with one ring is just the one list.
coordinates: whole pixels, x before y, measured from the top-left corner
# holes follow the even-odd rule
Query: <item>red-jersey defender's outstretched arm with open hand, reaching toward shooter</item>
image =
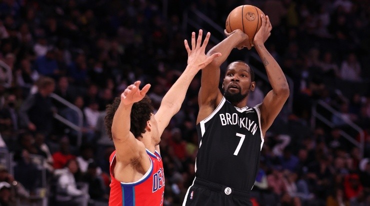
[[(170, 119), (175, 115), (181, 107), (187, 88), (196, 73), (204, 66), (209, 64), (214, 59), (219, 58), (220, 53), (214, 52), (212, 55), (205, 55), (205, 47), (207, 46), (210, 33), (205, 36), (203, 44), (201, 44), (202, 30), (199, 30), (198, 38), (195, 41), (195, 32), (191, 33), (191, 49), (184, 40), (185, 48), (187, 51), (187, 66), (178, 77), (176, 82), (171, 86), (168, 92), (164, 95), (158, 112), (155, 114), (155, 119), (158, 122), (158, 132), (161, 135), (163, 130), (167, 127)], [(216, 58), (217, 57), (217, 58)], [(156, 148), (157, 149), (157, 148)]]

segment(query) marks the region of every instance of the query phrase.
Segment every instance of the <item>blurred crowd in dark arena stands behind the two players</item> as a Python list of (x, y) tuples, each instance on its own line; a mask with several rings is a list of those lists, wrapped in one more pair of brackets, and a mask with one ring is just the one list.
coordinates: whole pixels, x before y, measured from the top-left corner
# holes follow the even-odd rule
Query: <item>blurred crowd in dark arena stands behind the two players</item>
[[(0, 153), (12, 154), (10, 164), (0, 160), (0, 205), (43, 197), (55, 206), (107, 205), (114, 147), (103, 126), (105, 105), (141, 80), (152, 85), (157, 109), (186, 66), (183, 39), (199, 29), (184, 25), (183, 14), (197, 9), (223, 28), (241, 4), (269, 15), (267, 48), (293, 86), (292, 105), (266, 134), (253, 206), (370, 205), (367, 0), (0, 0)], [(235, 50), (229, 60), (263, 73), (253, 53)], [(270, 89), (256, 79), (248, 106)], [(199, 86), (197, 75), (161, 137), (165, 206), (181, 205), (195, 176)], [(52, 93), (82, 111), (82, 144), (78, 132), (53, 118), (78, 124), (78, 112)], [(312, 121), (318, 100), (338, 112), (317, 108), (331, 127)], [(348, 122), (364, 135), (363, 153)]]

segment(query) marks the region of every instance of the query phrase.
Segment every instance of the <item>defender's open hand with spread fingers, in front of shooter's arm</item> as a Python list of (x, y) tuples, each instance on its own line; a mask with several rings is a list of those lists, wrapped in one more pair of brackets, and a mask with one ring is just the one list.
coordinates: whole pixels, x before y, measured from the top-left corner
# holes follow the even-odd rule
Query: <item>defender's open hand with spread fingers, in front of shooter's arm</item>
[(187, 51), (187, 65), (194, 65), (198, 69), (204, 68), (208, 65), (214, 58), (221, 56), (221, 53), (214, 53), (210, 56), (204, 54), (205, 47), (208, 44), (210, 33), (208, 32), (205, 36), (203, 44), (201, 45), (201, 37), (203, 30), (199, 30), (198, 38), (195, 43), (195, 32), (191, 33), (191, 49), (187, 43), (187, 40), (184, 40), (185, 49)]

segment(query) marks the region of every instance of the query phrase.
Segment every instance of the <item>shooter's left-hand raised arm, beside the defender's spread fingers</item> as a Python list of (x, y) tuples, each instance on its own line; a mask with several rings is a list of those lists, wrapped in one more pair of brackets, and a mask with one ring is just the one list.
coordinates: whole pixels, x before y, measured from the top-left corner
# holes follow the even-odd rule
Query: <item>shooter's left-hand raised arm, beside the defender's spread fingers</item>
[(239, 45), (243, 45), (243, 43), (247, 41), (248, 36), (240, 29), (237, 29), (228, 34), (227, 38), (223, 39), (208, 51), (208, 56), (214, 53), (221, 53), (221, 56), (213, 59), (201, 71), (201, 82), (198, 95), (199, 113), (196, 124), (208, 117), (222, 99), (222, 94), (218, 89), (220, 76), (219, 67), (227, 59), (233, 48), (239, 47)]

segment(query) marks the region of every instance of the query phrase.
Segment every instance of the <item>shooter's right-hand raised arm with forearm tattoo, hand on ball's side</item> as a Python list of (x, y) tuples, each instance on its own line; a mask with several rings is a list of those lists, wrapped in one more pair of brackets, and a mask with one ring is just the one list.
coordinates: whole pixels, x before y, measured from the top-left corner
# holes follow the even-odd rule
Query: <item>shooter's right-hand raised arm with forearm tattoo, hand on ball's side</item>
[(263, 62), (268, 81), (272, 87), (259, 106), (261, 129), (264, 135), (289, 97), (289, 86), (280, 66), (263, 45), (263, 42), (270, 35), (272, 26), (268, 16), (261, 14), (261, 19), (262, 25), (254, 36), (253, 44)]

